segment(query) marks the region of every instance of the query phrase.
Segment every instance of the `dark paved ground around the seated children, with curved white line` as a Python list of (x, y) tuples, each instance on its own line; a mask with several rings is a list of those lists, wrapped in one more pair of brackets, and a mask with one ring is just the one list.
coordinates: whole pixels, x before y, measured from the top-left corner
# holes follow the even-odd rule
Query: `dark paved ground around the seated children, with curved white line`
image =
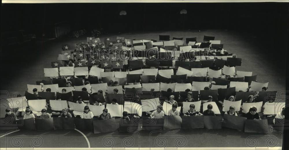
[[(197, 41), (203, 39), (203, 35), (215, 36), (216, 40), (221, 40), (224, 44), (224, 49), (229, 53), (236, 53), (237, 57), (242, 58), (242, 66), (237, 66), (236, 70), (251, 71), (253, 75), (257, 74), (258, 82), (269, 82), (268, 91), (285, 90), (285, 55), (269, 55), (264, 53), (260, 48), (258, 41), (250, 34), (226, 31), (226, 30), (202, 30), (198, 31), (168, 31), (168, 32), (151, 32), (151, 33), (128, 33), (117, 35), (105, 35), (101, 37), (110, 37), (116, 39), (116, 36), (124, 36), (126, 39), (155, 39), (158, 40), (158, 35), (171, 35), (172, 37), (197, 37)], [(86, 36), (79, 38), (63, 38), (55, 39), (37, 44), (37, 52), (27, 55), (34, 55), (34, 60), (29, 62), (26, 56), (23, 56), (23, 63), (11, 62), (5, 64), (8, 66), (3, 67), (1, 70), (8, 69), (4, 78), (1, 78), (1, 96), (3, 91), (8, 91), (10, 97), (13, 94), (24, 95), (27, 89), (26, 84), (35, 84), (35, 81), (46, 79), (44, 77), (43, 68), (51, 68), (51, 61), (57, 60), (57, 55), (61, 51), (61, 44), (76, 43), (79, 41), (86, 41)], [(30, 47), (31, 48), (31, 47)], [(29, 49), (29, 48), (28, 48)], [(25, 49), (28, 51), (28, 49)], [(23, 49), (22, 49), (23, 50)], [(27, 63), (25, 63), (27, 62)], [(11, 66), (11, 68), (10, 68)], [(277, 94), (278, 94), (277, 93)], [(2, 109), (3, 107), (1, 107)], [(21, 147), (82, 147), (87, 148), (88, 142), (85, 137), (76, 130), (53, 130), (53, 131), (24, 131), (13, 132), (4, 136), (9, 130), (0, 130), (0, 144), (1, 147), (19, 147), (12, 144), (16, 137), (23, 141)], [(162, 138), (166, 139), (165, 147), (175, 147), (175, 139), (184, 138), (185, 143), (177, 143), (179, 147), (268, 147), (268, 146), (282, 146), (282, 134), (280, 132), (269, 132), (268, 134), (245, 133), (238, 132), (233, 129), (193, 129), (193, 130), (169, 130), (162, 132), (150, 133), (144, 130), (138, 130), (137, 133), (120, 133), (118, 131), (93, 134), (93, 132), (83, 132), (89, 143), (90, 147), (123, 147), (123, 142), (126, 147), (163, 147)], [(151, 136), (150, 136), (151, 134)], [(132, 143), (123, 141), (125, 137), (134, 139)], [(14, 139), (13, 139), (14, 138)], [(33, 139), (42, 139), (40, 145), (37, 143), (32, 144)], [(112, 139), (112, 143), (104, 141), (103, 139)], [(248, 138), (255, 138), (254, 143), (246, 143)], [(268, 142), (273, 139), (273, 144)], [(41, 140), (40, 140), (41, 142)], [(114, 145), (113, 145), (114, 143)], [(21, 144), (21, 143), (20, 143)]]

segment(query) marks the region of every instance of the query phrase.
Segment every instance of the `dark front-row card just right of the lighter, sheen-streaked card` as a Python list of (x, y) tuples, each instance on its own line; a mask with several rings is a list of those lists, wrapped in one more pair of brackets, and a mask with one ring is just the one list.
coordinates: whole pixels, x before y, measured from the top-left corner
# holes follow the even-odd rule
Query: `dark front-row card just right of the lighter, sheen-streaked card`
[(204, 116), (181, 116), (182, 129), (204, 128)]

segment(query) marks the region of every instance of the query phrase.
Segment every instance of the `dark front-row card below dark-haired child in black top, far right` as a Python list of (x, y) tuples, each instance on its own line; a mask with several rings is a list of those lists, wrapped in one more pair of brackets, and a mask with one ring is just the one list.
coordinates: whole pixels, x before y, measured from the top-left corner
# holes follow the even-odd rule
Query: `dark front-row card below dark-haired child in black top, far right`
[(262, 120), (245, 120), (245, 132), (252, 133), (268, 133), (268, 121), (267, 119)]

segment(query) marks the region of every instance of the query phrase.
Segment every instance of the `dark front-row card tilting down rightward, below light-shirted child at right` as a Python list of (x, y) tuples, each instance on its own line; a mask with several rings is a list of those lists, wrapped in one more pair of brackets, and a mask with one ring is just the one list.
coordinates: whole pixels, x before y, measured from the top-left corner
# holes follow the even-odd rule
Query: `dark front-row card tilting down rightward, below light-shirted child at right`
[(243, 131), (245, 127), (245, 121), (247, 118), (235, 116), (235, 115), (227, 115), (223, 116), (222, 126), (231, 129), (237, 129), (238, 131)]

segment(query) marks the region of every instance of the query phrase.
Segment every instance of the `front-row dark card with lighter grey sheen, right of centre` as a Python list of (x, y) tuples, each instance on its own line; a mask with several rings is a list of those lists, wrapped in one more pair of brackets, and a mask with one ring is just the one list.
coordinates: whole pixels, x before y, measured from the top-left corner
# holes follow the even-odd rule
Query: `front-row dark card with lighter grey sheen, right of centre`
[(181, 116), (164, 117), (164, 130), (180, 129), (182, 124)]

